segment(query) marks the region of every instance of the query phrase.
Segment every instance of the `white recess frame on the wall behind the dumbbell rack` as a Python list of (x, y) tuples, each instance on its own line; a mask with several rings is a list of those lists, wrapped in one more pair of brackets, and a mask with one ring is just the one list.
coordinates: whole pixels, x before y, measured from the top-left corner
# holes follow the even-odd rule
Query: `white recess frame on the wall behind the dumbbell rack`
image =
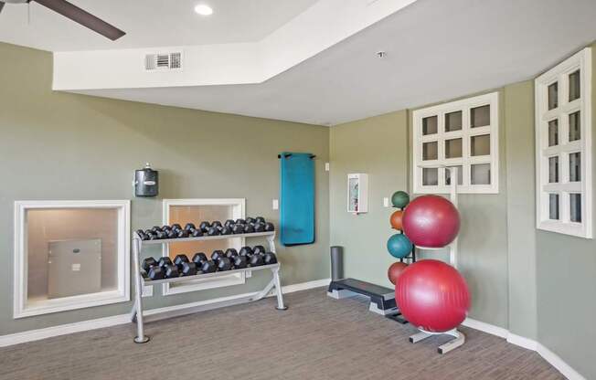
[[(246, 217), (246, 199), (244, 198), (164, 199), (164, 225), (169, 224), (170, 206), (233, 206), (232, 219), (244, 219)], [(229, 239), (233, 239), (234, 241), (233, 248), (239, 249), (245, 245), (244, 237), (234, 237), (233, 235), (230, 235)], [(209, 255), (210, 252), (206, 252), (206, 254)], [(169, 246), (167, 244), (164, 245), (162, 256), (169, 257)], [(229, 276), (218, 277), (215, 279), (187, 281), (184, 284), (175, 287), (170, 287), (170, 284), (166, 282), (162, 284), (162, 294), (168, 296), (172, 294), (187, 293), (190, 291), (242, 285), (244, 283), (246, 283), (246, 273), (244, 272), (230, 274)]]

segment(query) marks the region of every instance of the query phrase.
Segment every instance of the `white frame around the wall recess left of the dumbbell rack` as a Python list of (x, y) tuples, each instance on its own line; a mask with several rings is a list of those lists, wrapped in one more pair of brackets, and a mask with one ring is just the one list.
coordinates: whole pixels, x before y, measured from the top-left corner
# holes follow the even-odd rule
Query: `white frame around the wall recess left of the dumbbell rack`
[[(53, 208), (118, 209), (118, 289), (59, 299), (27, 302), (27, 211)], [(16, 201), (13, 317), (25, 318), (131, 300), (131, 202), (130, 200)]]

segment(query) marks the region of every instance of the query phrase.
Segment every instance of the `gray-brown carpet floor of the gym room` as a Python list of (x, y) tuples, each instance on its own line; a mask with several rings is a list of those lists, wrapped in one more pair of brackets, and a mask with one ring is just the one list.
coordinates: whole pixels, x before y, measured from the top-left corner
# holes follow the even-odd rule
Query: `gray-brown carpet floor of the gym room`
[(443, 337), (411, 344), (416, 330), (325, 289), (0, 349), (0, 379), (564, 379), (538, 354), (463, 327), (467, 342), (437, 354)]

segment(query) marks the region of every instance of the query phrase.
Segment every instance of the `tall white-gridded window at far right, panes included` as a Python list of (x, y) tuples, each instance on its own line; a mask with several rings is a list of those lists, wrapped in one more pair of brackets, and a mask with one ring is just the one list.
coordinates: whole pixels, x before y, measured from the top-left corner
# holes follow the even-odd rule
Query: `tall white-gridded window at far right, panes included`
[(537, 228), (592, 237), (591, 48), (536, 79)]

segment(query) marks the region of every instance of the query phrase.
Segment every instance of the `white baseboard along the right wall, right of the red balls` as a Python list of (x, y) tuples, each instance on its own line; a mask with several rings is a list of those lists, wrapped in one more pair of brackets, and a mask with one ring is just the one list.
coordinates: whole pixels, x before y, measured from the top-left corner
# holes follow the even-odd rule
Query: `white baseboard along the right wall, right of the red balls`
[(569, 364), (565, 363), (565, 361), (563, 361), (563, 359), (561, 359), (559, 355), (553, 353), (552, 351), (548, 350), (547, 347), (543, 346), (540, 343), (537, 343), (532, 339), (516, 335), (515, 333), (509, 332), (503, 327), (498, 327), (493, 324), (476, 321), (470, 318), (466, 318), (466, 320), (463, 321), (462, 324), (474, 330), (487, 332), (492, 335), (505, 338), (508, 343), (516, 344), (517, 346), (526, 348), (528, 350), (536, 351), (537, 354), (542, 356), (542, 358), (544, 358), (544, 360), (548, 362), (548, 364), (557, 368), (561, 375), (564, 375), (569, 380), (586, 380), (586, 378), (583, 375), (580, 375), (579, 372), (571, 368)]

